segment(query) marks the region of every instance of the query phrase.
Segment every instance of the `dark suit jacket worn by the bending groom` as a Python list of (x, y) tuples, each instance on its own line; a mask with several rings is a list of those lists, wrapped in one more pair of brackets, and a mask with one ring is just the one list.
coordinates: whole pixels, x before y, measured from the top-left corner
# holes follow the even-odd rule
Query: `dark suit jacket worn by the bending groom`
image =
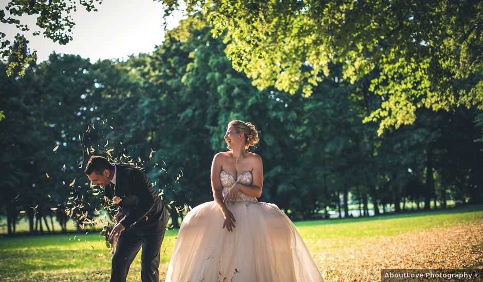
[(104, 196), (109, 199), (114, 196), (121, 198), (119, 205), (125, 216), (121, 224), (126, 229), (164, 229), (170, 217), (146, 174), (132, 165), (114, 165), (117, 168), (116, 186), (115, 189), (106, 187)]

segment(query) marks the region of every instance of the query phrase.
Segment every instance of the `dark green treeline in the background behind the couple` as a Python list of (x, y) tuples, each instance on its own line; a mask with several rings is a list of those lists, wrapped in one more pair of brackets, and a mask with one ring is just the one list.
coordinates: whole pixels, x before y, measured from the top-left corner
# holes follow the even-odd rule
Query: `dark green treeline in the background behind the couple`
[(252, 150), (264, 161), (259, 200), (292, 219), (348, 214), (348, 202), (364, 215), (369, 203), (376, 215), (387, 204), (400, 212), (407, 203), (483, 203), (481, 111), (420, 109), (414, 124), (378, 136), (377, 123), (362, 123), (384, 98), (369, 88), (378, 71), (351, 84), (329, 63), (309, 97), (259, 91), (211, 28), (190, 17), (153, 54), (122, 62), (52, 53), (23, 77), (7, 77), (0, 64), (0, 213), (9, 233), (24, 216), (32, 233), (53, 216), (64, 230), (68, 217), (84, 228), (102, 196), (83, 174), (92, 154), (143, 167), (171, 215), (182, 216), (184, 204), (212, 200), (212, 157), (226, 150), (233, 118), (260, 131)]

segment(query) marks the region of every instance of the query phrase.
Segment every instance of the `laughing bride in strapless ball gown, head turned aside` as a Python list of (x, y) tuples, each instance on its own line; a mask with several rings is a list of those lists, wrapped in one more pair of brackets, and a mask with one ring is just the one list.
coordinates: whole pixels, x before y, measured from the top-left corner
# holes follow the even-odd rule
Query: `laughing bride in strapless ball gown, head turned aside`
[(211, 167), (214, 201), (185, 217), (166, 282), (323, 281), (292, 221), (274, 204), (261, 203), (262, 158), (251, 123), (233, 120)]

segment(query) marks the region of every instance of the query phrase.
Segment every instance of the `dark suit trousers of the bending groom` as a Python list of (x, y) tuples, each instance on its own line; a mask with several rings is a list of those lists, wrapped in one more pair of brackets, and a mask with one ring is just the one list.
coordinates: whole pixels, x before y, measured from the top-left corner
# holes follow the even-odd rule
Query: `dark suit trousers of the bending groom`
[(162, 228), (139, 231), (130, 228), (121, 232), (112, 260), (111, 282), (126, 281), (129, 267), (142, 247), (141, 252), (141, 280), (143, 282), (158, 282), (159, 255), (164, 238)]

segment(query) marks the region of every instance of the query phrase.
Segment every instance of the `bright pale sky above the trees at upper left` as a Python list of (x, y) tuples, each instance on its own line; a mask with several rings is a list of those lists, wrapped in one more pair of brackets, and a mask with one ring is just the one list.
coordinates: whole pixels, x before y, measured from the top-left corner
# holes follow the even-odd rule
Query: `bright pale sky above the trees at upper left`
[[(7, 0), (0, 0), (0, 7), (6, 6)], [(33, 36), (33, 31), (40, 30), (35, 26), (35, 17), (21, 17), (22, 23), (30, 28), (23, 34), (29, 41), (30, 50), (37, 50), (37, 62), (45, 61), (52, 51), (78, 54), (90, 58), (90, 62), (126, 59), (131, 54), (151, 53), (156, 45), (162, 44), (164, 11), (161, 3), (153, 0), (103, 0), (101, 5), (97, 3), (97, 8), (97, 12), (87, 12), (78, 7), (77, 12), (71, 13), (76, 25), (72, 29), (73, 40), (67, 45), (54, 43), (43, 34)], [(180, 14), (167, 19), (168, 28), (177, 26), (180, 19)], [(0, 31), (7, 35), (10, 42), (13, 42), (16, 33), (22, 33), (15, 25), (2, 23)]]

